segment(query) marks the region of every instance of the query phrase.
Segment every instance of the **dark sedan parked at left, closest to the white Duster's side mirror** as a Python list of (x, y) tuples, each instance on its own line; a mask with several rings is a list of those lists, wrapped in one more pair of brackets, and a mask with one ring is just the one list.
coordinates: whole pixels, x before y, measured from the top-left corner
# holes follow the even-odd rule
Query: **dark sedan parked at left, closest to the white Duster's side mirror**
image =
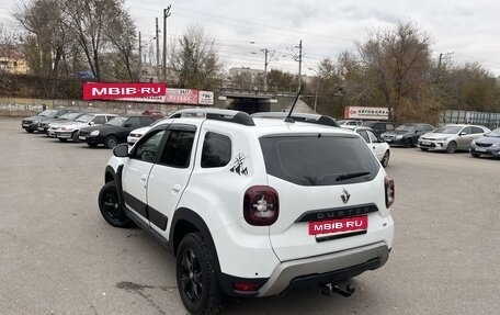
[(81, 128), (78, 138), (91, 147), (103, 144), (114, 148), (117, 144), (126, 143), (133, 130), (149, 126), (152, 122), (147, 116), (118, 116), (102, 125)]

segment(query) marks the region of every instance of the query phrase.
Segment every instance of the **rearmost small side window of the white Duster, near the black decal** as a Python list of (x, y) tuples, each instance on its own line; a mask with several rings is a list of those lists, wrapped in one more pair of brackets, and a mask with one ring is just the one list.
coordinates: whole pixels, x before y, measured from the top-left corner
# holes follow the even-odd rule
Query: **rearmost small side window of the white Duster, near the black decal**
[(203, 142), (202, 167), (214, 168), (229, 164), (231, 159), (231, 139), (217, 133), (206, 133)]

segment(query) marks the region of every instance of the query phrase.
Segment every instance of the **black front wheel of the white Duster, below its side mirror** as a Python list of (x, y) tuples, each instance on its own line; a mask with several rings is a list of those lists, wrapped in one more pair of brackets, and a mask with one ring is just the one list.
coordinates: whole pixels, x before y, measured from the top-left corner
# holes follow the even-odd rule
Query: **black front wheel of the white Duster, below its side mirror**
[(133, 221), (120, 206), (118, 191), (114, 181), (106, 182), (99, 192), (99, 210), (101, 211), (102, 217), (112, 226), (134, 226)]

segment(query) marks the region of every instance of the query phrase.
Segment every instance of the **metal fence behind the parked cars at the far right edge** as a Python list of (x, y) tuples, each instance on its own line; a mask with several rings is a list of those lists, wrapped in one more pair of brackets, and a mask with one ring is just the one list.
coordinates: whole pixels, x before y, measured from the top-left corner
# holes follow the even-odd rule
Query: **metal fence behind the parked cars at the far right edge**
[(442, 124), (476, 124), (489, 127), (500, 127), (500, 113), (446, 110), (442, 113)]

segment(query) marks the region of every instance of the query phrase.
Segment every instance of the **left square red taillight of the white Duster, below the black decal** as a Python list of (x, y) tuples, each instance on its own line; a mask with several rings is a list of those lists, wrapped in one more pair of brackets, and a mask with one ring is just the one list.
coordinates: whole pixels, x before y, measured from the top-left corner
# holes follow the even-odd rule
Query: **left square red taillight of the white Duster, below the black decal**
[(253, 185), (245, 192), (243, 216), (250, 225), (271, 225), (277, 220), (277, 192), (269, 185)]

